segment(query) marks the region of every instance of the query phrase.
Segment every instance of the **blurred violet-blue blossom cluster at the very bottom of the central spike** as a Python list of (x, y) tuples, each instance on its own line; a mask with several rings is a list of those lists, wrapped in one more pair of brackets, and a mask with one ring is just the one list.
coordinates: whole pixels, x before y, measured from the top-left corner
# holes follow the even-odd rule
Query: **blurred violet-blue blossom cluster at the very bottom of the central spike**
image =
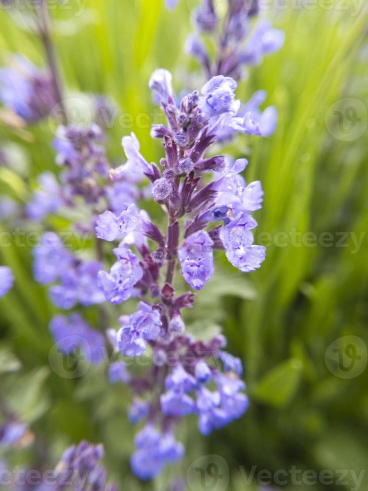
[(184, 453), (182, 444), (175, 441), (172, 433), (160, 433), (149, 424), (136, 435), (135, 447), (130, 465), (143, 480), (155, 477), (167, 463), (177, 462)]

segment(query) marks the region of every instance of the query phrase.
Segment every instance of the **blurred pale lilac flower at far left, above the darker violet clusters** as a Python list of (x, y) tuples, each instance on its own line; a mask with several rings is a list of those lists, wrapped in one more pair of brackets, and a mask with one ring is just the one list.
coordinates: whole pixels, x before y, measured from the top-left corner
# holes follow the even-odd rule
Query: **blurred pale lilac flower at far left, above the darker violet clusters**
[(27, 214), (31, 220), (41, 221), (46, 215), (55, 213), (64, 204), (61, 187), (51, 172), (43, 172), (37, 178), (40, 189), (27, 203)]

